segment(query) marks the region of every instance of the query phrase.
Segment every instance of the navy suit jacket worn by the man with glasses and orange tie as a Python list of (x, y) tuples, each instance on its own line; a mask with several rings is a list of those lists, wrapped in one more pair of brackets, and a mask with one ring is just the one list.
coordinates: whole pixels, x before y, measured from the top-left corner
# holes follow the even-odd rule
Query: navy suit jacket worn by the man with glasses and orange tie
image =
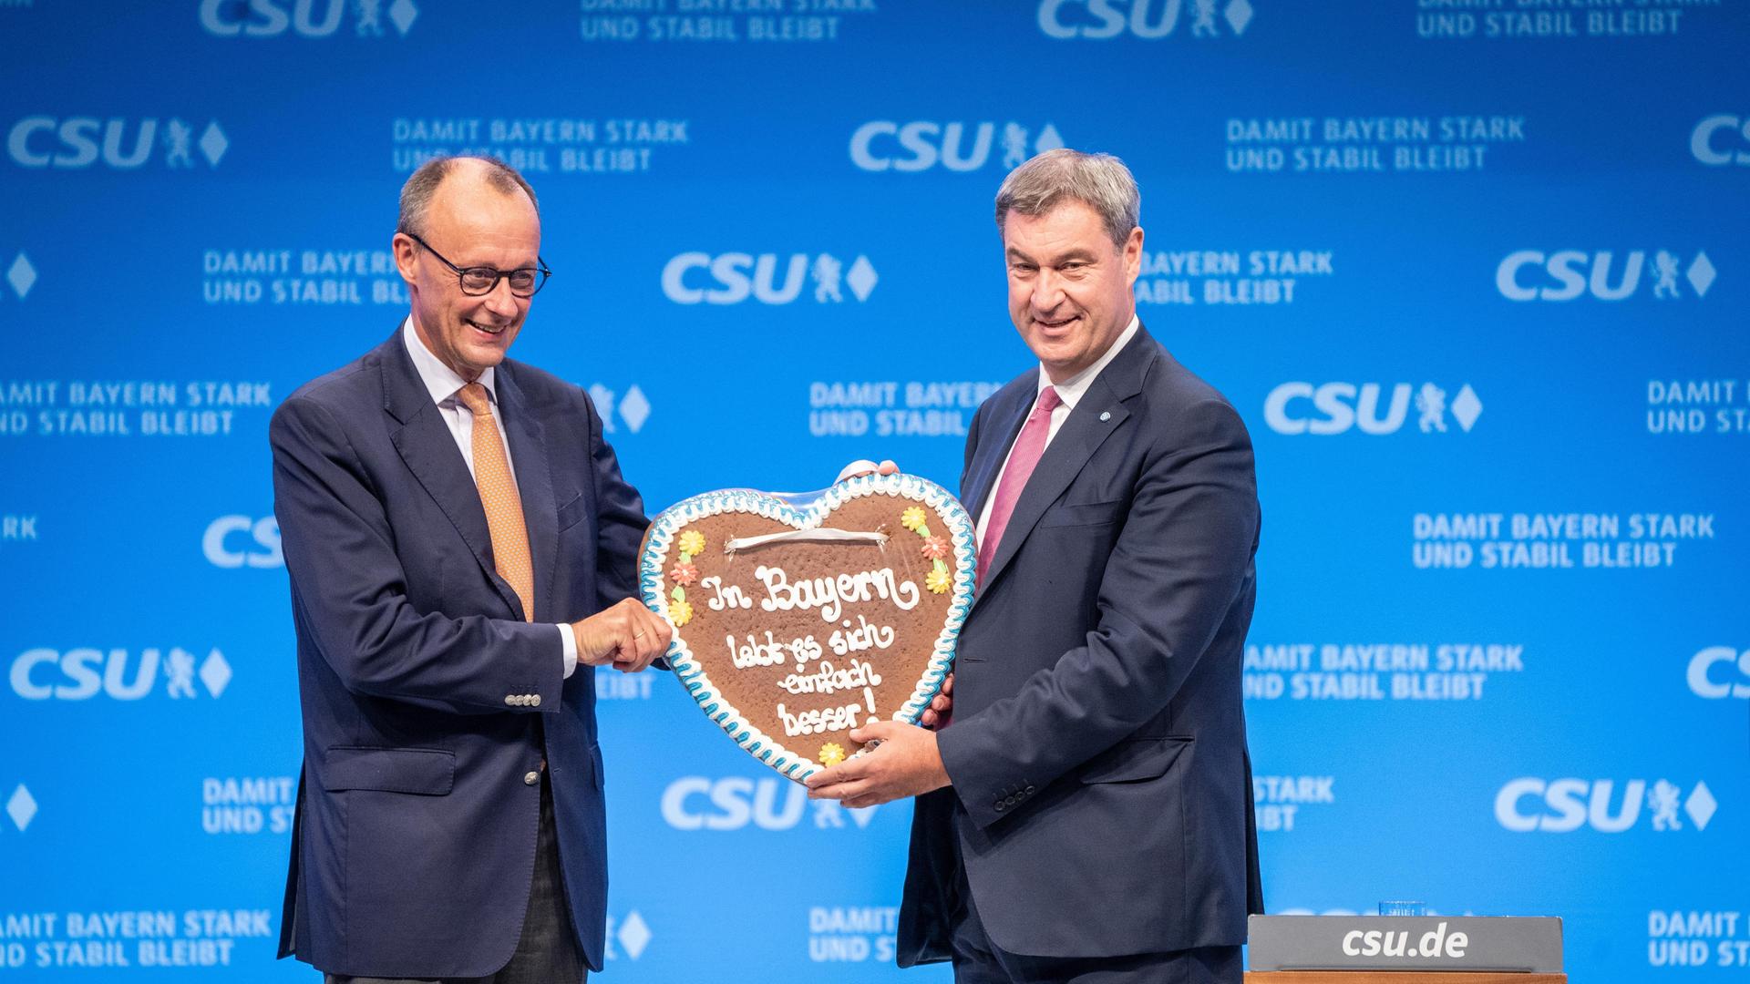
[(576, 385), (504, 361), (499, 413), (534, 622), (497, 576), (480, 492), (396, 334), (273, 413), (304, 767), (280, 956), (329, 973), (478, 977), (528, 905), (542, 760), (584, 959), (607, 849), (595, 676), (556, 622), (634, 594), (644, 508)]

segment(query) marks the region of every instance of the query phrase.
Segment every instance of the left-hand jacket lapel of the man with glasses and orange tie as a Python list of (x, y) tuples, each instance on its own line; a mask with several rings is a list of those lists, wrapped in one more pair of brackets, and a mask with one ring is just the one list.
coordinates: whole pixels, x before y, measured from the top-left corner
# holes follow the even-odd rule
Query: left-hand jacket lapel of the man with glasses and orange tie
[(401, 453), (408, 471), (418, 478), (425, 492), (438, 503), (455, 532), (467, 543), (480, 569), (492, 581), (511, 611), (518, 611), (516, 592), (499, 576), (492, 562), (492, 532), (486, 529), (486, 510), (480, 504), (480, 488), (455, 446), (455, 436), (443, 413), (432, 403), (430, 392), (420, 382), (413, 357), (401, 341), (401, 329), (378, 348), (378, 366), (383, 373), (383, 410), (401, 425), (388, 432), (390, 443)]

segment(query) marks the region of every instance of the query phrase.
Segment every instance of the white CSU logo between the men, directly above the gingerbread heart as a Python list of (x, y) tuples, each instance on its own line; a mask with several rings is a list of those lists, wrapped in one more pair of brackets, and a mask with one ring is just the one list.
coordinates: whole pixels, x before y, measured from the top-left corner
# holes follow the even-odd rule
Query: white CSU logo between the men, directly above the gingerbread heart
[[(779, 278), (779, 264), (784, 275)], [(677, 305), (738, 305), (754, 298), (763, 305), (788, 305), (802, 296), (802, 289), (814, 284), (810, 296), (816, 303), (842, 303), (845, 292), (864, 301), (875, 289), (875, 264), (866, 256), (858, 256), (845, 270), (845, 263), (830, 252), (808, 256), (793, 252), (779, 257), (775, 252), (752, 256), (747, 252), (682, 252), (662, 268), (662, 292)]]

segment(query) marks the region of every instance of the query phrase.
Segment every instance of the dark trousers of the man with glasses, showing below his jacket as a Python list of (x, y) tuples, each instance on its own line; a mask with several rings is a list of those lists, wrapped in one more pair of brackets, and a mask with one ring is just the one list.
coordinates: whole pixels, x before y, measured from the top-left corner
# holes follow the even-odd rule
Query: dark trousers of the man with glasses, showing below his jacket
[(565, 881), (558, 868), (558, 835), (553, 825), (553, 793), (541, 770), (541, 832), (536, 839), (536, 874), (528, 886), (528, 912), (516, 952), (497, 973), (486, 977), (341, 977), (327, 975), (327, 984), (583, 984), (588, 972), (578, 952), (565, 905)]

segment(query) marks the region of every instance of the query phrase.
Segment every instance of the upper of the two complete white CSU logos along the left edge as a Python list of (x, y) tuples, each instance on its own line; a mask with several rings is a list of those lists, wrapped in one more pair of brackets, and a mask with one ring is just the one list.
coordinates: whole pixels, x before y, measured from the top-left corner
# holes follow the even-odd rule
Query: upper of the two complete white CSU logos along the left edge
[(217, 168), (231, 142), (217, 121), (206, 124), (200, 140), (194, 126), (180, 119), (156, 117), (98, 119), (94, 116), (26, 116), (12, 124), (5, 149), (12, 161), (24, 168), (89, 168), (102, 161), (116, 170), (133, 170), (152, 159), (152, 151), (163, 149), (164, 166), (192, 168), (194, 151), (206, 158), (206, 166)]

